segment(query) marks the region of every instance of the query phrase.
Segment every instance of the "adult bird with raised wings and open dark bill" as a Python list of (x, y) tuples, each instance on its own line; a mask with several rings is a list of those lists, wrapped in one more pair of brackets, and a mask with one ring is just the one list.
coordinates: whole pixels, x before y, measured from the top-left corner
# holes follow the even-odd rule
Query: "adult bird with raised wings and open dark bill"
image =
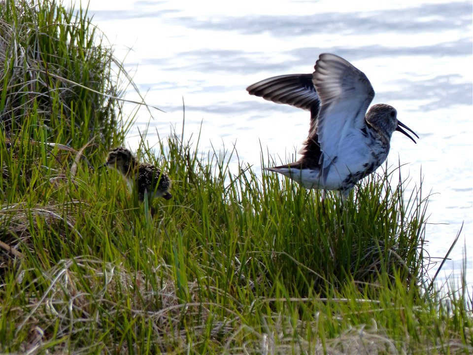
[(405, 129), (396, 109), (372, 106), (374, 90), (366, 75), (343, 58), (324, 53), (312, 74), (271, 77), (248, 86), (251, 95), (310, 111), (302, 157), (267, 170), (283, 174), (305, 188), (339, 190), (345, 199), (351, 188), (374, 172), (389, 152), (391, 136)]

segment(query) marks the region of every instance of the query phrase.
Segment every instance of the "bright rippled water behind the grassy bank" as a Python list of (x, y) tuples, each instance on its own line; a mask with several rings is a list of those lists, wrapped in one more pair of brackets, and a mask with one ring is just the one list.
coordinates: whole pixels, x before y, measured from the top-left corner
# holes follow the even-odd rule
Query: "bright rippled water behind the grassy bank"
[[(347, 59), (372, 82), (373, 104), (395, 106), (420, 136), (414, 144), (395, 133), (388, 162), (406, 164), (412, 188), (422, 176), (424, 194), (432, 191), (432, 256), (445, 254), (464, 223), (445, 271), (460, 270), (466, 246), (471, 281), (472, 1), (378, 2), (91, 0), (89, 12), (118, 58), (126, 55), (146, 102), (167, 112), (152, 112), (149, 142), (156, 130), (180, 131), (184, 101), (187, 137), (202, 122), (201, 148), (235, 143), (256, 167), (260, 143), (286, 162), (307, 136), (309, 114), (251, 97), (246, 86), (312, 72), (322, 52)], [(149, 113), (139, 114), (143, 129)], [(136, 130), (129, 144), (137, 146)]]

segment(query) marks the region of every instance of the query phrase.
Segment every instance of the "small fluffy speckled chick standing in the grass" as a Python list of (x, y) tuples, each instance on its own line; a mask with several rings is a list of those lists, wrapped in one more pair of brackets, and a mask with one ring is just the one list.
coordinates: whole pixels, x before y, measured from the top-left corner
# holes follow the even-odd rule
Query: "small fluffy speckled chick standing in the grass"
[(148, 195), (149, 200), (154, 197), (163, 197), (169, 200), (171, 180), (169, 176), (152, 164), (138, 163), (138, 159), (129, 149), (118, 147), (108, 152), (105, 164), (102, 167), (115, 168), (122, 174), (128, 185), (138, 192), (140, 202)]

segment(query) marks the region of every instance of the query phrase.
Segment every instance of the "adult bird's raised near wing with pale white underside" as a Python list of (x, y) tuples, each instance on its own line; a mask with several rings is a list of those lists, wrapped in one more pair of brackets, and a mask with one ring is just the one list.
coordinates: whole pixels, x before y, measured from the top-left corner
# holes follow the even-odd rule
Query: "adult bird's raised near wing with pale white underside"
[(374, 90), (362, 71), (329, 53), (321, 54), (315, 63), (313, 84), (321, 101), (313, 134), (318, 136), (322, 149), (321, 174), (326, 179), (341, 142), (365, 126)]

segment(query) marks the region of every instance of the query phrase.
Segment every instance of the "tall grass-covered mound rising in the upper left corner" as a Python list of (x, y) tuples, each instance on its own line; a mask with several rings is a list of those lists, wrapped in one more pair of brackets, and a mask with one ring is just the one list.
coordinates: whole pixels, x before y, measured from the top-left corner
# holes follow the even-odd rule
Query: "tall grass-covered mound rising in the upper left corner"
[(0, 2), (0, 122), (7, 134), (34, 117), (30, 124), (55, 142), (122, 142), (120, 71), (87, 9), (51, 0)]

